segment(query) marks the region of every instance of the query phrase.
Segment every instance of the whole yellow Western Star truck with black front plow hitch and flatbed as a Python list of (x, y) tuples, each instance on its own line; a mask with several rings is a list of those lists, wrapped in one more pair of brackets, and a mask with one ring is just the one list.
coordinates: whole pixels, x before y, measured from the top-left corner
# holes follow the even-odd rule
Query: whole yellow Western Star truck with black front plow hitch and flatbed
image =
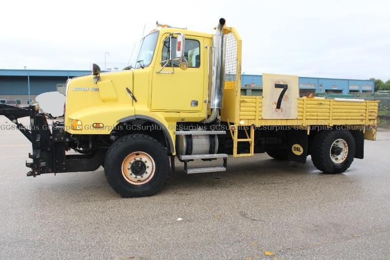
[[(302, 163), (311, 155), (329, 174), (363, 159), (377, 101), (299, 97), (297, 76), (275, 74), (263, 74), (263, 96), (241, 96), (241, 46), (224, 19), (215, 34), (157, 24), (124, 70), (100, 73), (94, 64), (92, 75), (67, 81), (64, 122), (50, 128), (37, 103), (1, 105), (0, 114), (32, 142), (28, 176), (103, 166), (124, 197), (155, 194), (175, 157), (187, 174), (225, 171), (228, 155)], [(26, 116), (30, 127), (18, 122)], [(190, 168), (193, 160), (221, 166)]]

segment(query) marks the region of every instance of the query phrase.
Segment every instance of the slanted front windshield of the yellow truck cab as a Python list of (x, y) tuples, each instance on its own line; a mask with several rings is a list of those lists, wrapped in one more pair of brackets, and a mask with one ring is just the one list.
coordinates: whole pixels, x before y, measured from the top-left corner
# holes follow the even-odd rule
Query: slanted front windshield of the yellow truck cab
[(130, 58), (130, 68), (137, 69), (150, 65), (155, 53), (157, 38), (158, 31), (145, 36), (137, 43)]

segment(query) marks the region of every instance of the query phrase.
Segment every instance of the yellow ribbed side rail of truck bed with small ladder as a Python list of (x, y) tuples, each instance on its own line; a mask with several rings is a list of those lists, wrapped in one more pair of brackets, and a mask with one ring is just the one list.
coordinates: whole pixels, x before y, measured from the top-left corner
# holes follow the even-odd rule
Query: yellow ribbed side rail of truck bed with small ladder
[[(348, 101), (319, 98), (299, 98), (297, 119), (263, 119), (262, 100), (260, 96), (241, 96), (239, 104), (239, 124), (230, 124), (231, 134), (234, 141), (234, 157), (253, 155), (253, 128), (254, 126), (299, 126), (301, 129), (308, 129), (313, 125), (354, 125), (362, 126), (365, 139), (376, 139), (376, 126), (378, 118), (378, 102), (372, 100)], [(238, 126), (251, 126), (251, 138), (247, 140), (238, 139)], [(370, 128), (367, 128), (370, 126)], [(234, 128), (232, 128), (234, 127)], [(246, 133), (247, 134), (247, 133)], [(248, 135), (248, 134), (247, 134)], [(237, 154), (237, 142), (249, 141), (251, 152), (249, 154)]]

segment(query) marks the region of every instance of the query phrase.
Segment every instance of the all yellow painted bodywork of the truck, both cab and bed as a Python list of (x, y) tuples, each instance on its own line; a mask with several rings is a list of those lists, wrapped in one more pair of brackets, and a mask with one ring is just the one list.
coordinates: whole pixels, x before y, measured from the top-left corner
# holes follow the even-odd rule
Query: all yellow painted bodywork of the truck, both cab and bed
[[(71, 134), (94, 135), (110, 134), (119, 120), (140, 115), (153, 118), (164, 125), (175, 144), (177, 122), (199, 122), (210, 113), (206, 100), (209, 100), (212, 56), (207, 46), (213, 46), (213, 35), (176, 29), (158, 29), (158, 39), (153, 60), (149, 66), (134, 70), (101, 73), (97, 82), (94, 76), (83, 76), (69, 81), (66, 93), (65, 129)], [(161, 69), (163, 41), (170, 33), (182, 32), (185, 38), (200, 43), (200, 67), (181, 70), (175, 68), (173, 74), (158, 74)], [(262, 97), (240, 96), (241, 86), (241, 46), (242, 40), (233, 27), (225, 27), (224, 33), (233, 40), (235, 49), (227, 62), (233, 64), (232, 77), (225, 81), (221, 120), (232, 125), (372, 125), (376, 126), (377, 102), (347, 102), (317, 98), (299, 98), (296, 119), (263, 119)], [(229, 38), (230, 37), (230, 38)], [(232, 58), (233, 57), (233, 58)], [(209, 62), (208, 62), (209, 59)], [(172, 71), (165, 67), (163, 72)], [(209, 78), (208, 78), (209, 76)], [(127, 93), (129, 88), (137, 98), (135, 102)], [(198, 106), (191, 106), (197, 100)], [(210, 101), (210, 100), (209, 100)], [(82, 122), (82, 130), (72, 130), (73, 120)], [(104, 127), (95, 129), (94, 123)], [(248, 134), (253, 155), (253, 127)], [(232, 133), (234, 139), (234, 133)], [(375, 132), (367, 133), (366, 138), (375, 139)], [(251, 140), (252, 139), (252, 140)], [(239, 140), (238, 140), (239, 141)], [(175, 153), (174, 153), (175, 154)], [(237, 155), (236, 155), (237, 156)]]

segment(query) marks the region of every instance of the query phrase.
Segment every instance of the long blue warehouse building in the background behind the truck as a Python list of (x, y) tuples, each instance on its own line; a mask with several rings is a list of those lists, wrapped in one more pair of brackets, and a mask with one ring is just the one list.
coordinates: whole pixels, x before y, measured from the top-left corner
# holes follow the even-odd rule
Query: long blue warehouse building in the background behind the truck
[[(89, 70), (0, 69), (0, 103), (16, 100), (20, 104), (29, 104), (41, 93), (57, 91), (57, 86), (65, 84), (67, 79), (90, 73)], [(255, 95), (261, 95), (262, 76), (243, 74), (241, 85), (246, 86), (243, 87), (244, 94), (253, 92)], [(373, 92), (374, 80), (299, 77), (299, 89), (301, 96), (315, 93)]]

